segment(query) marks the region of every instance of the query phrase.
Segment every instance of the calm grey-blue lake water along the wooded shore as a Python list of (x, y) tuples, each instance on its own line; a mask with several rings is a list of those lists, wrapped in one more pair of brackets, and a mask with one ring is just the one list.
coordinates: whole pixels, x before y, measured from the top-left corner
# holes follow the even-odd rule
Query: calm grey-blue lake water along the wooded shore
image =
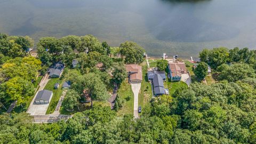
[(0, 32), (40, 37), (92, 34), (149, 55), (197, 57), (203, 48), (256, 46), (255, 0), (0, 0)]

